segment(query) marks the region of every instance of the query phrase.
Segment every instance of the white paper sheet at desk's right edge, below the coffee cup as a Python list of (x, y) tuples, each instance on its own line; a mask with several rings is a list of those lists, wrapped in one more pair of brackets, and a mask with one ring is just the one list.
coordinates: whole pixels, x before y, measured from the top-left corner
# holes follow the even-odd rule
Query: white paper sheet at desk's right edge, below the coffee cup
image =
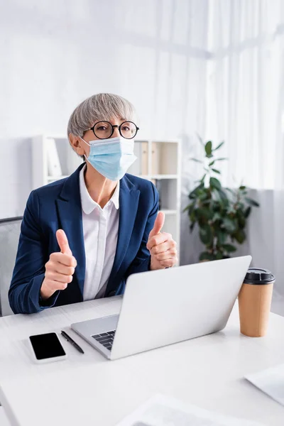
[(249, 374), (246, 376), (246, 380), (271, 396), (273, 400), (284, 405), (284, 364)]

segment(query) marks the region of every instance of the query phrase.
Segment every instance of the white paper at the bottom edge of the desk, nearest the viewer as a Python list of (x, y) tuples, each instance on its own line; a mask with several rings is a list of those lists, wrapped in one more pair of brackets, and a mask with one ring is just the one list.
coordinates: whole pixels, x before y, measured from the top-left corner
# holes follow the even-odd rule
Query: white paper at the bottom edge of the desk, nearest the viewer
[(155, 395), (116, 426), (261, 426), (260, 423), (228, 417)]

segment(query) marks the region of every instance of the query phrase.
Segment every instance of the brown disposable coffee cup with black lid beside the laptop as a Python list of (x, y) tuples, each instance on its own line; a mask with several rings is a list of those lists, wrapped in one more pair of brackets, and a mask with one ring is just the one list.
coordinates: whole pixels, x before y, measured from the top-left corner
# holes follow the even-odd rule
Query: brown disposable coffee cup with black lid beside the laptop
[(239, 292), (241, 334), (263, 337), (268, 329), (275, 276), (271, 271), (249, 268)]

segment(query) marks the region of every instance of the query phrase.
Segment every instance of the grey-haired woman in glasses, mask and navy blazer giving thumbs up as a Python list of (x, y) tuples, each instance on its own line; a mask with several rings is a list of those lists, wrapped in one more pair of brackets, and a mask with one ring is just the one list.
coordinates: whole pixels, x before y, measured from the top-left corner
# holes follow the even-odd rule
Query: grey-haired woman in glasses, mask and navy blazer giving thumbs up
[(175, 265), (155, 186), (125, 175), (136, 160), (135, 121), (133, 105), (114, 94), (96, 94), (73, 111), (67, 134), (85, 162), (28, 198), (9, 290), (13, 312), (119, 295), (131, 273)]

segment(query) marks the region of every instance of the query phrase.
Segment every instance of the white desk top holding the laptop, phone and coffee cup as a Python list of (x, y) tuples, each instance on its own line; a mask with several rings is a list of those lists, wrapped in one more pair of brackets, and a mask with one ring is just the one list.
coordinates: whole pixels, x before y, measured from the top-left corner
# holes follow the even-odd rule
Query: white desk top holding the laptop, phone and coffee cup
[[(120, 305), (113, 297), (0, 319), (0, 401), (12, 426), (113, 426), (155, 393), (283, 426), (284, 408), (243, 376), (283, 364), (284, 317), (272, 314), (268, 336), (251, 339), (239, 334), (234, 310), (223, 332), (107, 361), (68, 327), (119, 312)], [(60, 337), (69, 359), (33, 364), (28, 336), (62, 328), (85, 354)]]

